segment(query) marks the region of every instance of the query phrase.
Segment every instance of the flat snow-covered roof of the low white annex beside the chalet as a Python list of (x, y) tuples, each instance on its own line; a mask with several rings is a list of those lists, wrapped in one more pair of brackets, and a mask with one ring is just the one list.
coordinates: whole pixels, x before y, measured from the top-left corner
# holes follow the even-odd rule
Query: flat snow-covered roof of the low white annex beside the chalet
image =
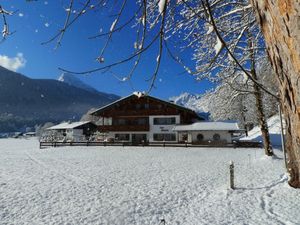
[(197, 122), (190, 125), (177, 125), (175, 131), (203, 131), (203, 130), (241, 130), (236, 122)]

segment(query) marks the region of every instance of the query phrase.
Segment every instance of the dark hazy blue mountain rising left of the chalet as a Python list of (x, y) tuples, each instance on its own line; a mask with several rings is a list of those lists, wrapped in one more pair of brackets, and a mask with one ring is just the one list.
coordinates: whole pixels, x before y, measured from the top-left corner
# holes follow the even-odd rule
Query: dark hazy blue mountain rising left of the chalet
[(0, 132), (44, 122), (78, 120), (119, 96), (86, 90), (51, 79), (30, 79), (0, 67)]

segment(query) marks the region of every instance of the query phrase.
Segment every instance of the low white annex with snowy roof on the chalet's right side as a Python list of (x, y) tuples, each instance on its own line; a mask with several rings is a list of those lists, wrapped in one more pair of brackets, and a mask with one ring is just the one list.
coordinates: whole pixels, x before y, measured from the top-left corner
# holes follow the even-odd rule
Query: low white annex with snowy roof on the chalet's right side
[(194, 144), (232, 143), (233, 137), (244, 132), (238, 123), (231, 121), (177, 125), (174, 131), (178, 133), (179, 142)]

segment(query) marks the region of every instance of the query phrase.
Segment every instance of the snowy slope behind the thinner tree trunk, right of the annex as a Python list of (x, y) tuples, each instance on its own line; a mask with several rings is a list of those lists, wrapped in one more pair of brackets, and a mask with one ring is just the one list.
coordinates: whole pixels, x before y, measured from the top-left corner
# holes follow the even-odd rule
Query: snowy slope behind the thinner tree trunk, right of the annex
[[(268, 119), (268, 127), (272, 145), (281, 146), (281, 128), (279, 115), (272, 116)], [(248, 135), (248, 137), (244, 137), (242, 138), (242, 140), (262, 141), (259, 126), (256, 126), (252, 130), (250, 130)]]

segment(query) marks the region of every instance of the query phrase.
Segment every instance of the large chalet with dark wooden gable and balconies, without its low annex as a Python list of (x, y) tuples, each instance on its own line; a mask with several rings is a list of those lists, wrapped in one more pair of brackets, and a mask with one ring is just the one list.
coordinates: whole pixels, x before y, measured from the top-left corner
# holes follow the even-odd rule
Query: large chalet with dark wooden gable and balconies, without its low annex
[(176, 125), (204, 120), (193, 110), (141, 92), (117, 100), (91, 113), (106, 140), (178, 142)]

